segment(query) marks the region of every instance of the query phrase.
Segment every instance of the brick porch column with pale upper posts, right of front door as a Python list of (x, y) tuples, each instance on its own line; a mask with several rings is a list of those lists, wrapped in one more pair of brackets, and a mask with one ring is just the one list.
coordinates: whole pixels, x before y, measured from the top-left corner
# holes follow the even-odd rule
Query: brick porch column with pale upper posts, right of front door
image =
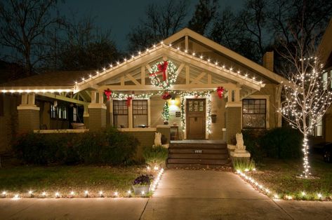
[(226, 140), (227, 144), (235, 144), (235, 135), (242, 129), (242, 102), (239, 99), (239, 89), (228, 91), (226, 103)]

